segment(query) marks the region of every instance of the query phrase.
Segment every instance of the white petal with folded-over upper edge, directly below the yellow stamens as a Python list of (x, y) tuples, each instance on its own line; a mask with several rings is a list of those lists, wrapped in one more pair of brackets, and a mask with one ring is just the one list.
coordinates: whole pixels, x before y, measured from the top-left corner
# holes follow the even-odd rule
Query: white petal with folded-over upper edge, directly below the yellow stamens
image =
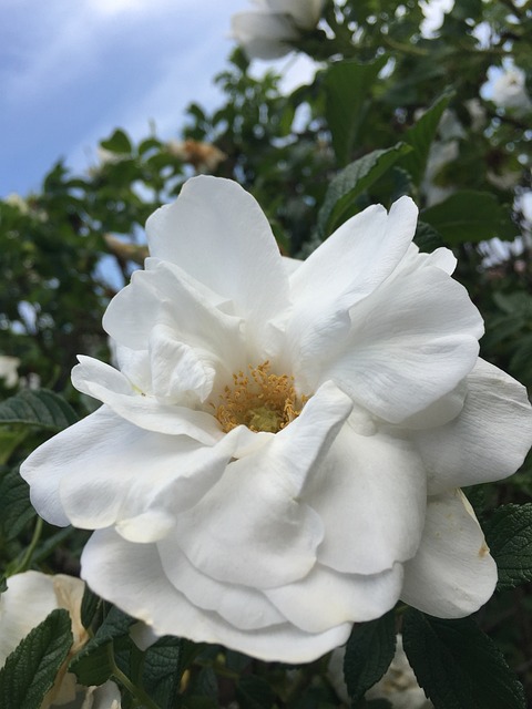
[(258, 452), (231, 463), (196, 507), (180, 515), (176, 535), (196, 568), (260, 588), (310, 571), (323, 526), (299, 495), (350, 409), (345, 394), (324, 384), (299, 418)]

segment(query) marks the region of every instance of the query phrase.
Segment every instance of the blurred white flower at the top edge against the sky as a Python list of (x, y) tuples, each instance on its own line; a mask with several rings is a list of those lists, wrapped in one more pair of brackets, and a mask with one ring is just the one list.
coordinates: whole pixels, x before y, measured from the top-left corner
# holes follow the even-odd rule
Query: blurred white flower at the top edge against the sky
[(249, 59), (277, 59), (293, 49), (301, 32), (317, 25), (325, 0), (254, 0), (254, 4), (256, 10), (233, 16), (233, 37)]

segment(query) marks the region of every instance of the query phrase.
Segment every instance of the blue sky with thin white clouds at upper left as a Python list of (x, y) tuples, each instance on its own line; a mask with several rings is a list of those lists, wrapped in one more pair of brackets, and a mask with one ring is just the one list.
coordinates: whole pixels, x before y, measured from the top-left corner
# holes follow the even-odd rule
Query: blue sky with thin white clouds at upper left
[(212, 79), (233, 49), (231, 16), (248, 8), (247, 0), (1, 0), (0, 196), (38, 189), (59, 157), (86, 169), (116, 126), (141, 137), (153, 121), (172, 137), (191, 101), (219, 104)]

